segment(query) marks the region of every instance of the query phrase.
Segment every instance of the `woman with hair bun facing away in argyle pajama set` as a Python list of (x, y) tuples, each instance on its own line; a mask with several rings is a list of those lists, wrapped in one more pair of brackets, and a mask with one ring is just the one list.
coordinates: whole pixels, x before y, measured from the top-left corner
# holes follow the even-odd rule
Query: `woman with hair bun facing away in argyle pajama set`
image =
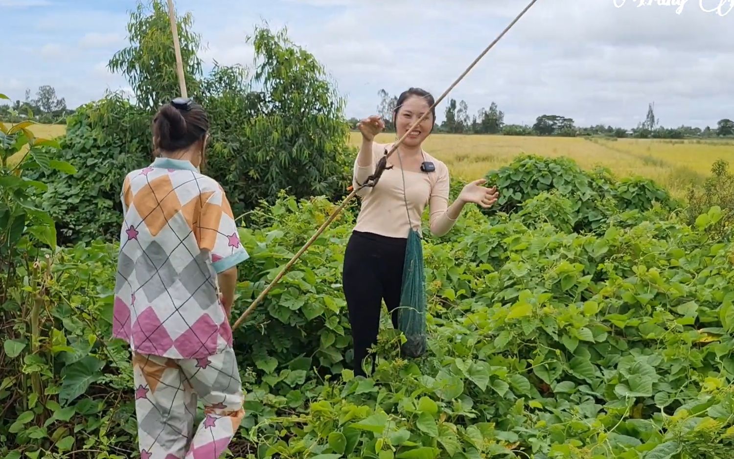
[[(128, 173), (120, 195), (112, 335), (132, 351), (142, 459), (219, 458), (244, 415), (228, 319), (248, 255), (225, 192), (199, 172), (208, 129), (189, 99), (162, 106), (157, 157)], [(194, 430), (197, 400), (205, 417)]]

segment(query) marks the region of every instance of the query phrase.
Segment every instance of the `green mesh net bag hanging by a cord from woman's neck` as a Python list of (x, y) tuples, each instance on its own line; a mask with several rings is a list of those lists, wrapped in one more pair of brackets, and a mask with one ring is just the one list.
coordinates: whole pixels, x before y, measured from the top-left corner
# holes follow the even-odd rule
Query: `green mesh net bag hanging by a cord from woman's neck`
[[(398, 158), (400, 158), (400, 153), (398, 153)], [(402, 168), (402, 159), (400, 162), (400, 172), (403, 174), (403, 198), (407, 212), (408, 203), (405, 197), (405, 173)], [(407, 340), (403, 344), (401, 353), (408, 357), (419, 357), (426, 352), (427, 347), (426, 279), (421, 235), (413, 229), (410, 212), (408, 212), (408, 223), (410, 223), (410, 231), (405, 246), (398, 327)]]

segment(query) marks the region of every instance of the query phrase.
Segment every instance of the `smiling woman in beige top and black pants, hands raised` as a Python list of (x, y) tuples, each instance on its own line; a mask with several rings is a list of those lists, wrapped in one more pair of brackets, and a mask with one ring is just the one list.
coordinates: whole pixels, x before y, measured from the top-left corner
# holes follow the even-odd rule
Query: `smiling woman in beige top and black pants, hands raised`
[[(430, 109), (434, 98), (420, 88), (400, 95), (393, 112), (396, 134), (402, 137)], [(374, 187), (357, 193), (360, 214), (344, 253), (344, 295), (354, 341), (355, 375), (365, 375), (362, 364), (367, 350), (377, 340), (382, 300), (398, 328), (396, 308), (400, 301), (403, 261), (410, 223), (421, 230), (421, 215), (429, 206), (429, 228), (435, 236), (451, 230), (466, 203), (484, 208), (498, 198), (496, 187), (482, 187), (484, 179), (466, 185), (457, 200), (448, 205), (448, 167), (421, 148), (435, 126), (435, 109), (405, 137), (390, 156), (392, 168), (382, 173)], [(359, 123), (362, 146), (355, 159), (353, 185), (364, 184), (391, 144), (374, 142), (385, 123), (371, 116)], [(410, 217), (409, 217), (410, 216)], [(374, 357), (372, 359), (374, 371)]]

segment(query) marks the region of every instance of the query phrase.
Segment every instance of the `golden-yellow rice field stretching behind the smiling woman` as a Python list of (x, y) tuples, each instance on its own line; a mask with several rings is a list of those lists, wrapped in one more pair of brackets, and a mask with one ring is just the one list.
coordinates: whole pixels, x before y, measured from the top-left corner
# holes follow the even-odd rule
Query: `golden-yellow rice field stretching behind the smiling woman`
[[(351, 133), (352, 145), (360, 145), (359, 132)], [(393, 142), (395, 134), (379, 134), (377, 142)], [(567, 156), (580, 167), (608, 167), (615, 175), (652, 178), (677, 197), (683, 197), (691, 181), (700, 183), (717, 159), (734, 163), (734, 142), (716, 140), (585, 140), (581, 137), (520, 137), (501, 135), (432, 134), (427, 153), (445, 162), (452, 176), (482, 178), (502, 167), (517, 154)]]

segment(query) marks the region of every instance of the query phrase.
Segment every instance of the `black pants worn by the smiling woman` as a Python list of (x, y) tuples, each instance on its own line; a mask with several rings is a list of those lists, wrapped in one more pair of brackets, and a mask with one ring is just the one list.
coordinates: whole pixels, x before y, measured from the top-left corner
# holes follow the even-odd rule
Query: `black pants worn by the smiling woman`
[[(406, 238), (354, 231), (344, 253), (342, 283), (354, 341), (354, 372), (364, 376), (362, 363), (377, 342), (382, 300), (398, 328), (397, 307), (403, 278)], [(374, 356), (372, 371), (374, 371)]]

